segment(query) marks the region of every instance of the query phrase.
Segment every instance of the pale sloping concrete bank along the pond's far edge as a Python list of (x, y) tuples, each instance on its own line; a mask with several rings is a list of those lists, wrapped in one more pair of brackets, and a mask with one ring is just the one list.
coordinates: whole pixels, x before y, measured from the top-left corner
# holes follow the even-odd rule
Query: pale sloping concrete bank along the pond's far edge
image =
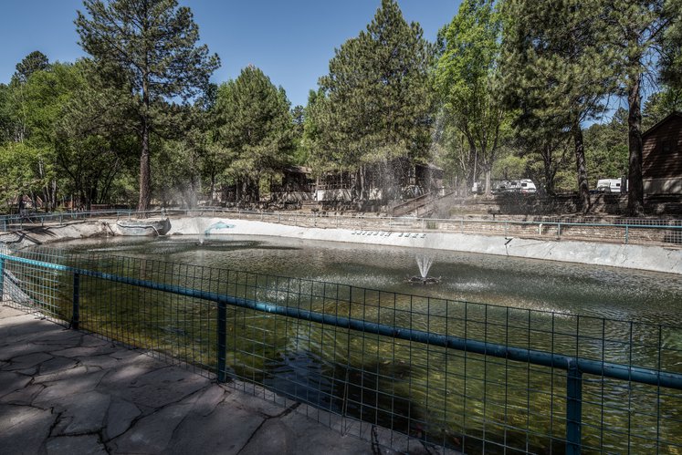
[[(115, 233), (106, 220), (0, 234), (0, 243), (18, 249)], [(500, 235), (360, 231), (340, 228), (300, 227), (272, 222), (224, 217), (184, 217), (171, 220), (166, 235), (266, 235), (322, 242), (360, 243), (483, 253), (543, 261), (601, 265), (682, 274), (682, 250), (657, 245), (539, 240)]]

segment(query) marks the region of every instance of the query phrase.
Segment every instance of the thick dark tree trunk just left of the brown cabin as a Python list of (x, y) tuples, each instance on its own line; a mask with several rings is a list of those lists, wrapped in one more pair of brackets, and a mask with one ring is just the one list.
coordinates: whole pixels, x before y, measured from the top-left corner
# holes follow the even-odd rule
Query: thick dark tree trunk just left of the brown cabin
[(630, 216), (644, 214), (644, 183), (642, 181), (642, 96), (641, 77), (631, 79), (627, 93), (627, 143), (629, 165), (627, 171), (627, 212)]

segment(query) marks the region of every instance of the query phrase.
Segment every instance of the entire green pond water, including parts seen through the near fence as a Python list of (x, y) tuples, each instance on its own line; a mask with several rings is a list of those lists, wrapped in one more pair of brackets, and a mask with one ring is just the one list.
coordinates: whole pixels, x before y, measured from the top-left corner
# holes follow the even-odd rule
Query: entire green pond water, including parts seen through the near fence
[[(384, 324), (682, 372), (682, 328), (677, 328), (682, 327), (682, 277), (673, 274), (256, 236), (116, 237), (60, 243), (59, 248), (76, 255), (136, 258), (139, 264), (158, 260), (242, 271), (226, 275), (247, 276), (226, 292)], [(440, 277), (439, 284), (404, 282), (406, 276), (420, 273), (417, 256), (433, 260), (429, 275)], [(263, 282), (254, 277), (250, 285), (244, 273), (279, 278)], [(163, 281), (163, 274), (144, 278)], [(94, 301), (96, 295), (89, 297), (86, 290), (83, 298)], [(173, 311), (203, 310), (176, 301), (176, 309), (166, 311), (163, 298), (150, 297), (157, 300), (144, 317), (170, 327), (166, 332), (189, 333), (192, 327), (173, 326)], [(563, 451), (566, 379), (561, 369), (247, 310), (229, 310), (227, 324), (228, 367), (238, 377), (285, 395), (457, 450)], [(204, 343), (210, 351), (212, 342), (192, 340), (192, 349)], [(582, 394), (585, 452), (682, 450), (680, 391), (585, 377)]]

